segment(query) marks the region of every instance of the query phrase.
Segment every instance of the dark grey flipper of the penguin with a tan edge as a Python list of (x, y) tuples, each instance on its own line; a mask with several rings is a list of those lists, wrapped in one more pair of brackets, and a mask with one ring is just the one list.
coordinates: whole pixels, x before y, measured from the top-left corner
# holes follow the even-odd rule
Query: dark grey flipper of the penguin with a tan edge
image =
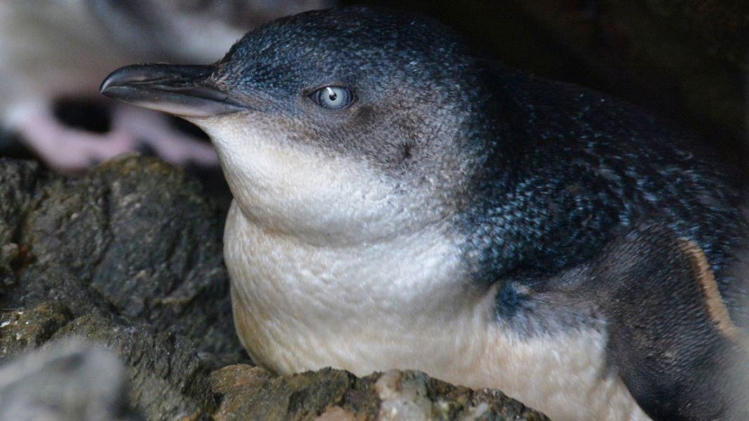
[(607, 360), (640, 408), (653, 420), (749, 420), (749, 336), (731, 321), (705, 253), (649, 227), (606, 256), (592, 289)]

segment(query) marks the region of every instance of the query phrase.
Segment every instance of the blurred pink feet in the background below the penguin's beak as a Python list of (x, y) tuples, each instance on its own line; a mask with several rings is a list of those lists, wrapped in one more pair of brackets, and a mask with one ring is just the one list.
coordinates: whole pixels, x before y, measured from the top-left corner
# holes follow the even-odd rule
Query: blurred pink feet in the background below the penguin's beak
[(51, 111), (27, 114), (16, 127), (49, 167), (64, 172), (84, 170), (143, 147), (178, 165), (218, 165), (210, 144), (170, 126), (163, 114), (130, 105), (116, 105), (107, 133), (65, 126)]

